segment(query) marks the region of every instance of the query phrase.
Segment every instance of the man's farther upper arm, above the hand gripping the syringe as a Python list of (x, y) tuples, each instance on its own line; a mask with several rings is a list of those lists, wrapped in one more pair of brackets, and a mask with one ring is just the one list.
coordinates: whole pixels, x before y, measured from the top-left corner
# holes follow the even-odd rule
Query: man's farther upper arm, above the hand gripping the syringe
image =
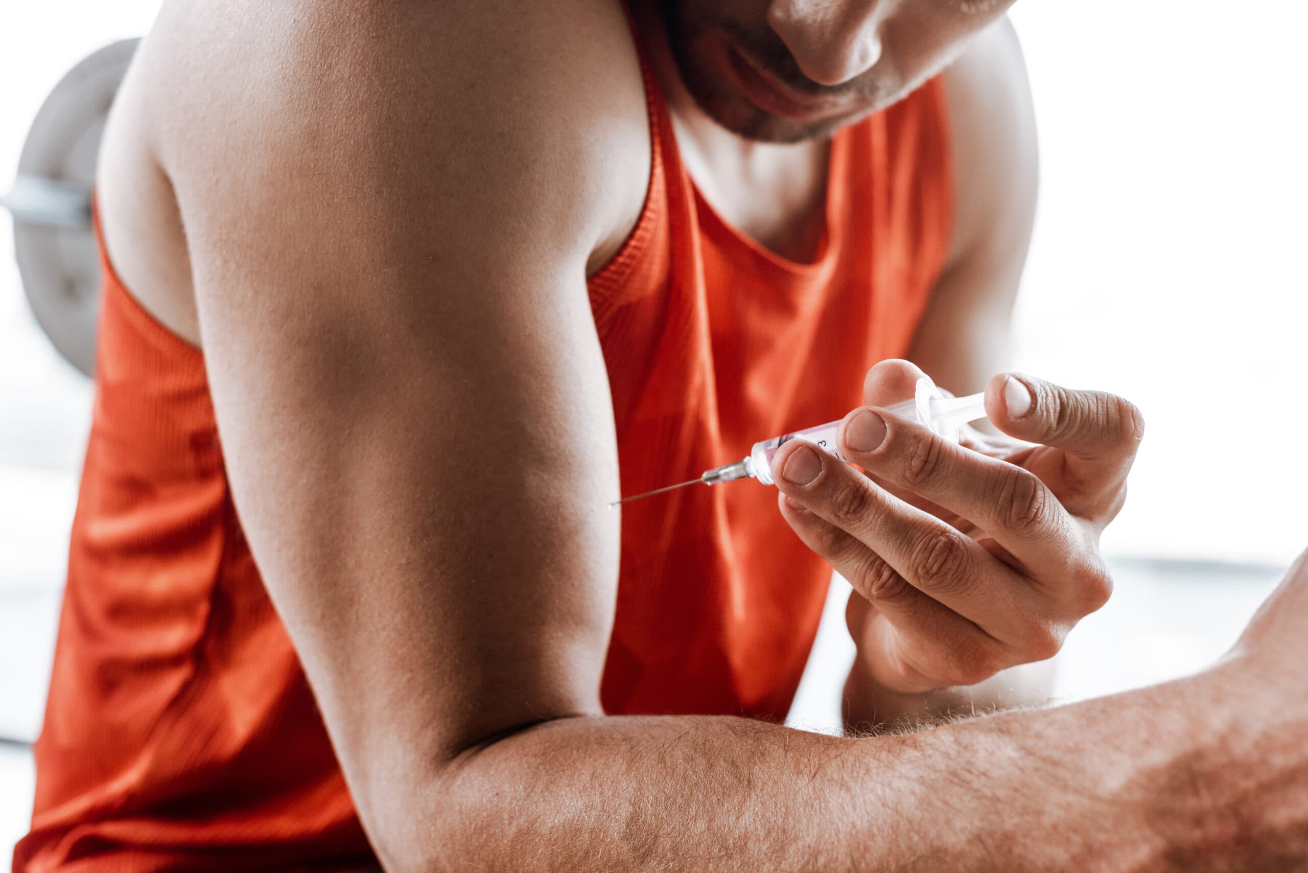
[(955, 178), (954, 240), (909, 357), (959, 394), (1006, 365), (1010, 317), (1035, 221), (1031, 88), (1007, 18), (944, 73)]

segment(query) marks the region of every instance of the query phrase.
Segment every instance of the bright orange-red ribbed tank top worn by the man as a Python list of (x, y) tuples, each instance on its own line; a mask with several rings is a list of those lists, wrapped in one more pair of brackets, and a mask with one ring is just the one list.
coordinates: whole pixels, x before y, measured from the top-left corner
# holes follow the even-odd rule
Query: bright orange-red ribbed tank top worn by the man
[[(698, 194), (642, 68), (649, 192), (589, 283), (623, 493), (857, 406), (867, 369), (906, 353), (951, 228), (939, 81), (836, 135), (825, 233), (794, 263)], [(94, 419), (14, 870), (366, 864), (233, 509), (204, 359), (136, 304), (103, 245), (101, 266)], [(831, 568), (782, 521), (776, 490), (744, 480), (628, 504), (621, 538), (606, 711), (783, 719)]]

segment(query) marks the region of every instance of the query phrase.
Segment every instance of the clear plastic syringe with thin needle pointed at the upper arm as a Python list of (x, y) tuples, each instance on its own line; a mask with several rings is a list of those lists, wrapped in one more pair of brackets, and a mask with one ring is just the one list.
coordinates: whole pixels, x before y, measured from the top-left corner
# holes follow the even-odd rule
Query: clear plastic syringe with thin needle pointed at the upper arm
[[(946, 397), (940, 389), (931, 383), (931, 380), (920, 378), (912, 401), (904, 401), (903, 403), (887, 406), (886, 411), (896, 418), (923, 424), (944, 438), (957, 442), (960, 427), (968, 421), (976, 421), (977, 419), (985, 418), (985, 393), (969, 394), (968, 397)], [(623, 497), (621, 500), (615, 500), (608, 505), (612, 508), (630, 500), (640, 500), (641, 497), (663, 493), (664, 491), (674, 491), (676, 488), (684, 488), (685, 486), (693, 486), (697, 482), (702, 482), (706, 486), (715, 486), (723, 482), (752, 478), (765, 486), (770, 486), (773, 484), (772, 455), (781, 448), (782, 444), (797, 437), (807, 440), (818, 448), (836, 455), (841, 461), (845, 461), (840, 449), (836, 448), (836, 435), (838, 429), (840, 421), (828, 421), (827, 424), (804, 428), (803, 431), (795, 431), (794, 433), (772, 437), (770, 440), (760, 440), (753, 444), (753, 448), (746, 458), (736, 461), (735, 463), (725, 463), (721, 467), (705, 470), (698, 479), (689, 479), (675, 486), (667, 486), (666, 488), (658, 488), (655, 491), (632, 495), (630, 497)]]

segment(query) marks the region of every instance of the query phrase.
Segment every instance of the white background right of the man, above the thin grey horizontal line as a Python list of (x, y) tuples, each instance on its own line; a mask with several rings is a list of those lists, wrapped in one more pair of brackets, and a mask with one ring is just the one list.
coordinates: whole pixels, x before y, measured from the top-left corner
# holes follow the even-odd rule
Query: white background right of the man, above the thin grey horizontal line
[(1135, 401), (1116, 552), (1308, 546), (1308, 5), (1014, 7), (1042, 144), (1032, 373)]

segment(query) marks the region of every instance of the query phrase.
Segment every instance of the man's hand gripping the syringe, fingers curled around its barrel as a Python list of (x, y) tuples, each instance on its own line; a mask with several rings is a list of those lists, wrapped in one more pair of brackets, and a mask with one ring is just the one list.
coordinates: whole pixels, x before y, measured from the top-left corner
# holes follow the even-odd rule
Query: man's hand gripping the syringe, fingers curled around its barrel
[[(1112, 394), (999, 374), (982, 395), (947, 398), (923, 377), (883, 361), (866, 407), (684, 483), (777, 486), (786, 524), (854, 588), (855, 671), (878, 688), (878, 717), (888, 702), (921, 707), (925, 691), (1050, 657), (1104, 603), (1099, 533), (1121, 509), (1142, 429)], [(982, 408), (999, 436), (956, 442)]]

